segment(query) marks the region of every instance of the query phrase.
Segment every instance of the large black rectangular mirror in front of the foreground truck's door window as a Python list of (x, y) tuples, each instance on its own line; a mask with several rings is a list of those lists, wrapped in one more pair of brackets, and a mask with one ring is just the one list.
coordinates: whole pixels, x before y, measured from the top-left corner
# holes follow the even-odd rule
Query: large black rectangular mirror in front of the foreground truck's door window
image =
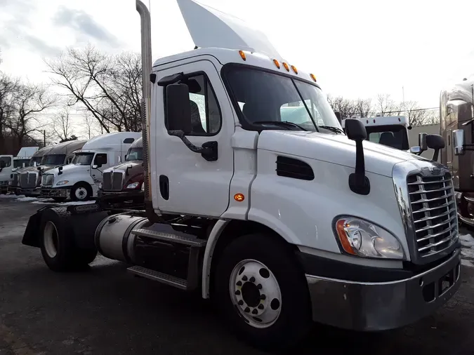
[(181, 130), (185, 135), (191, 133), (190, 92), (183, 83), (166, 86), (166, 122), (168, 130)]

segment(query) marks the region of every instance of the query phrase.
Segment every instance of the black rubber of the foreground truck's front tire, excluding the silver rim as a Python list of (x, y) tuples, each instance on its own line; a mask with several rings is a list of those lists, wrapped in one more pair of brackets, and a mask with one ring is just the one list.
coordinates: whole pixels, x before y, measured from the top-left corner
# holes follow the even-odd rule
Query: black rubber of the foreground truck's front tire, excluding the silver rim
[[(253, 259), (265, 264), (275, 275), (281, 290), (279, 317), (268, 328), (251, 326), (239, 314), (230, 296), (230, 276), (242, 260)], [(246, 342), (263, 350), (287, 349), (300, 342), (311, 327), (311, 305), (304, 272), (294, 253), (277, 237), (250, 234), (232, 241), (218, 257), (213, 284), (213, 299), (233, 330)]]

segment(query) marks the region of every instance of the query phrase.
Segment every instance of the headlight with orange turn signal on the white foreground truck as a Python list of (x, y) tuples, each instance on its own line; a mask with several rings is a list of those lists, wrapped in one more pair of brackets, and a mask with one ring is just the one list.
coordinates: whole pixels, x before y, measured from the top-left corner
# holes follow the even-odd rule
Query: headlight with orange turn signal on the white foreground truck
[(398, 239), (378, 225), (356, 217), (343, 217), (336, 222), (336, 232), (344, 251), (360, 257), (404, 259)]

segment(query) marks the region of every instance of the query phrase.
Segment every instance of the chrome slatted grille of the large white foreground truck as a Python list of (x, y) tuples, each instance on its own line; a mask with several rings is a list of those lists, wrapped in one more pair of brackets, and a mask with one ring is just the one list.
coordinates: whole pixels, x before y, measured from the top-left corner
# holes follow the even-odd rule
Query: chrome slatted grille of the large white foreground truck
[(449, 248), (458, 238), (451, 175), (410, 175), (407, 184), (419, 256)]

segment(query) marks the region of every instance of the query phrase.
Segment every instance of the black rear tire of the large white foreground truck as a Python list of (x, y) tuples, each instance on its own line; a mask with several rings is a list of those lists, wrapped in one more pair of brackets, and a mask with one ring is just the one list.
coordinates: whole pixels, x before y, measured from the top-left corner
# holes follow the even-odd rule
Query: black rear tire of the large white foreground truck
[[(66, 208), (44, 210), (40, 230), (41, 255), (49, 269), (54, 272), (84, 269), (96, 258), (96, 249), (80, 249), (75, 246), (70, 213)], [(55, 255), (51, 250), (50, 236), (55, 239), (53, 241)]]

